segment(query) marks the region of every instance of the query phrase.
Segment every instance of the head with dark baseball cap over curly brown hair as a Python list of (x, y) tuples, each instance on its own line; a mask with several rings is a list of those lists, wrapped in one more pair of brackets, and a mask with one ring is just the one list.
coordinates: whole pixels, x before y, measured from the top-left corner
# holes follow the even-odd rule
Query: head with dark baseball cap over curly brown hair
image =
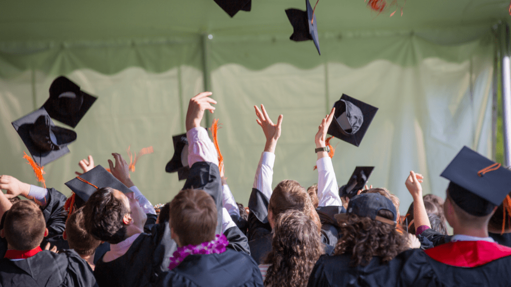
[(353, 197), (347, 213), (338, 214), (339, 239), (335, 254), (351, 255), (351, 266), (366, 266), (373, 256), (388, 262), (408, 248), (406, 234), (396, 228), (394, 204), (379, 193)]

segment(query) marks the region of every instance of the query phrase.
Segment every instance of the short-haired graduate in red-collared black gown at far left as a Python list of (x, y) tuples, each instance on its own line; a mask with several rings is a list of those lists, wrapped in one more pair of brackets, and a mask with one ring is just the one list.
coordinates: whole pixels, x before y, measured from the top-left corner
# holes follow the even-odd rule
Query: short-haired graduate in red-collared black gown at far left
[[(0, 193), (0, 212), (8, 202)], [(8, 250), (0, 260), (0, 286), (98, 286), (92, 270), (75, 251), (54, 253), (41, 250), (45, 228), (42, 211), (35, 203), (22, 200), (6, 211), (0, 236)]]

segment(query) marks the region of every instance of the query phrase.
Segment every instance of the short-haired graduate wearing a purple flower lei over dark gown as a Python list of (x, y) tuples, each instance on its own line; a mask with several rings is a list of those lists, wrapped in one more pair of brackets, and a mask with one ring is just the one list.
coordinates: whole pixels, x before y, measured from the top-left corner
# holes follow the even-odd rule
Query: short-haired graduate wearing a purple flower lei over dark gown
[(225, 235), (215, 235), (216, 214), (215, 202), (203, 190), (183, 189), (176, 195), (169, 223), (179, 247), (156, 286), (263, 286), (250, 255), (230, 250)]

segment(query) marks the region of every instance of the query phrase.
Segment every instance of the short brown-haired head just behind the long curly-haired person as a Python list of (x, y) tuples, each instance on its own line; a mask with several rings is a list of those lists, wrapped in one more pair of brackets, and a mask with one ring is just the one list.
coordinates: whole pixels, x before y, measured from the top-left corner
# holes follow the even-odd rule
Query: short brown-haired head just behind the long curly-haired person
[(318, 232), (320, 231), (319, 216), (305, 188), (297, 181), (283, 180), (273, 189), (268, 203), (268, 221), (272, 228), (275, 226), (275, 219), (289, 209), (307, 214), (318, 226)]

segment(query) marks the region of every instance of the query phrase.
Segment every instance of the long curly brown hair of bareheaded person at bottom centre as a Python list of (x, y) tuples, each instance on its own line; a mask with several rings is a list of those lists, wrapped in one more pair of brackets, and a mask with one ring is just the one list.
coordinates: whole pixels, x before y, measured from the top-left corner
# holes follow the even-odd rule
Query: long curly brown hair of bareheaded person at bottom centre
[(307, 286), (319, 256), (324, 253), (316, 225), (304, 212), (287, 210), (275, 224), (272, 250), (264, 262), (271, 264), (265, 286)]

